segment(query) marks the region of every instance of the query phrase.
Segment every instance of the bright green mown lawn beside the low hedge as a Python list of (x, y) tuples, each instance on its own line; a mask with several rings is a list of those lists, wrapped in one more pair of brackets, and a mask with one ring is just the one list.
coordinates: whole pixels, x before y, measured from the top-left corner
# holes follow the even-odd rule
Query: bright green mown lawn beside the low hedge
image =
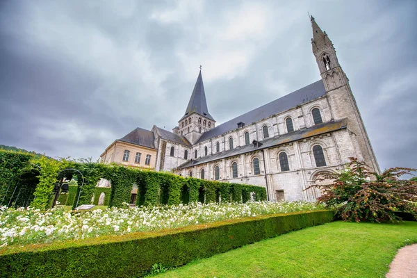
[(417, 222), (332, 222), (194, 261), (156, 277), (384, 277)]

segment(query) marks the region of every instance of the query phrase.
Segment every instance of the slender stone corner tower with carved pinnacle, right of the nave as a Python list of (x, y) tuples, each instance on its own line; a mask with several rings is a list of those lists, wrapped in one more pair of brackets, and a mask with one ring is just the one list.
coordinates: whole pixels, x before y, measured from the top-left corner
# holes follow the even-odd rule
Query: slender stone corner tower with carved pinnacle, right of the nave
[(311, 27), (313, 28), (313, 38), (311, 39), (313, 54), (325, 85), (333, 120), (347, 118), (348, 128), (358, 142), (363, 160), (374, 172), (379, 172), (379, 165), (370, 145), (368, 133), (363, 125), (349, 80), (338, 63), (336, 49), (334, 49), (327, 33), (318, 26), (314, 17), (311, 17)]

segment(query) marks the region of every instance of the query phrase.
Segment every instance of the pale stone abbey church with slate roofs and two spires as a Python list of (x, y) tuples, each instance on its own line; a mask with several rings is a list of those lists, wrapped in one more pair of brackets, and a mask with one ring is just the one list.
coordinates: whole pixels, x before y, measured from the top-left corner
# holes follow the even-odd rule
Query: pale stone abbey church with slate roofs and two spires
[(217, 125), (200, 71), (172, 132), (134, 129), (107, 147), (101, 161), (263, 186), (270, 201), (315, 200), (319, 193), (305, 189), (325, 183), (318, 179), (343, 170), (351, 156), (379, 172), (332, 41), (313, 17), (311, 26), (319, 81)]

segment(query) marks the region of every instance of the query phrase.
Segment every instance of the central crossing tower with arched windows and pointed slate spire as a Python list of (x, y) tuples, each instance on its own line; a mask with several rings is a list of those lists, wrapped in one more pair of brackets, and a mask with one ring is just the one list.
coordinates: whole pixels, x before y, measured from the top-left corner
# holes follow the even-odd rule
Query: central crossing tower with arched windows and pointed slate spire
[(215, 127), (215, 120), (208, 113), (201, 68), (193, 94), (188, 101), (186, 113), (179, 120), (178, 126), (179, 135), (186, 137), (192, 145), (199, 140), (204, 132)]

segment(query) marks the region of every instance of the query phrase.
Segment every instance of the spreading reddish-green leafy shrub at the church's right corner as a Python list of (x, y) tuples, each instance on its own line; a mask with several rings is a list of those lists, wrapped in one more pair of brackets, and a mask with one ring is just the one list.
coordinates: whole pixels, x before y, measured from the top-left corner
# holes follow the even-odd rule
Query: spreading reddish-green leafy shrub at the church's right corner
[(393, 167), (379, 175), (370, 172), (357, 158), (350, 158), (346, 170), (323, 177), (334, 183), (309, 188), (320, 188), (322, 195), (318, 203), (335, 208), (343, 220), (401, 220), (395, 211), (412, 213), (417, 219), (417, 183), (400, 179), (411, 171), (416, 169)]

